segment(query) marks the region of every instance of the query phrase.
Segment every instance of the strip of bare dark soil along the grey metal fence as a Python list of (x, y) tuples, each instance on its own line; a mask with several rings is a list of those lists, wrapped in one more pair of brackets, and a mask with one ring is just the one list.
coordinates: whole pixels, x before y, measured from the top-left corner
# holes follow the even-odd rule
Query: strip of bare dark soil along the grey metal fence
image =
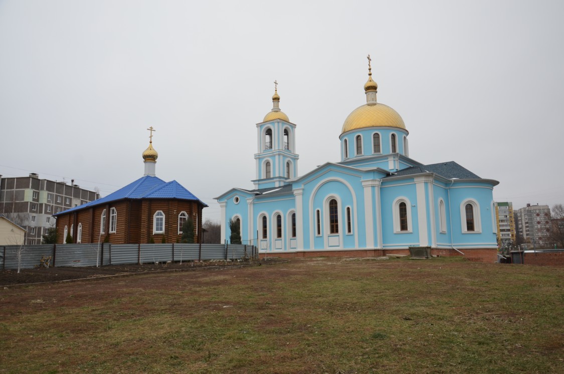
[(146, 274), (149, 272), (189, 271), (202, 268), (267, 265), (269, 263), (283, 262), (277, 257), (269, 257), (260, 261), (188, 261), (170, 263), (144, 263), (143, 265), (107, 265), (87, 267), (49, 267), (39, 269), (21, 269), (0, 271), (0, 286), (45, 283), (52, 281), (67, 281), (74, 279), (102, 278), (107, 276)]

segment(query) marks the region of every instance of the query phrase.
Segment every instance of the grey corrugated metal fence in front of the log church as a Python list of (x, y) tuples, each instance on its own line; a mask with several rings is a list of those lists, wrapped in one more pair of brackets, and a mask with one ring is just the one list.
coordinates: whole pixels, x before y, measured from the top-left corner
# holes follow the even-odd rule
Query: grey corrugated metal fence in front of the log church
[(39, 266), (96, 266), (128, 263), (236, 260), (258, 258), (257, 247), (243, 244), (41, 244), (0, 246), (0, 269)]

